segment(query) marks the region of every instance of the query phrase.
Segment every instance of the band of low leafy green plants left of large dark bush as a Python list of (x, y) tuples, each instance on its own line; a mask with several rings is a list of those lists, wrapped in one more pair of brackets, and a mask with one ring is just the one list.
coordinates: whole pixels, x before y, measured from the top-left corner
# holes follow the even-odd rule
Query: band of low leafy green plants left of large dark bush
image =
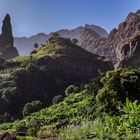
[[(21, 121), (17, 120), (12, 125), (9, 124), (9, 129), (17, 129), (20, 126), (22, 128), (32, 128), (38, 120), (41, 120), (41, 124), (44, 126), (52, 125), (52, 127), (58, 128), (67, 125), (67, 123), (78, 124), (83, 118), (89, 118), (89, 114), (92, 116), (90, 110), (92, 105), (92, 96), (83, 95), (82, 93), (72, 94), (66, 97), (63, 102), (24, 117)], [(5, 127), (3, 124), (0, 129)]]

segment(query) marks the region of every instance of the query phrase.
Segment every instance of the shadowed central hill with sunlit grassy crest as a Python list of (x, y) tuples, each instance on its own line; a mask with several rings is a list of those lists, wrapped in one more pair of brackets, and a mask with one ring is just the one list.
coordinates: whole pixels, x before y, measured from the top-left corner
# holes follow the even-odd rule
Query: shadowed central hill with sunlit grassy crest
[[(4, 64), (3, 64), (4, 63)], [(21, 116), (26, 103), (40, 100), (52, 103), (54, 96), (63, 95), (69, 85), (82, 85), (113, 69), (113, 64), (87, 52), (70, 39), (54, 36), (32, 55), (8, 62), (0, 71), (0, 114)], [(5, 74), (7, 76), (5, 76)]]

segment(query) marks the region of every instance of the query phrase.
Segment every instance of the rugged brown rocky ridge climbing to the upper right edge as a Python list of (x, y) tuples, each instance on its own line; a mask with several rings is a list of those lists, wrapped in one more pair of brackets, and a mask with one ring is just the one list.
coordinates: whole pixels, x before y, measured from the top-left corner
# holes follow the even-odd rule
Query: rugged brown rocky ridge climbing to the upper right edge
[(114, 64), (121, 60), (121, 49), (124, 44), (132, 38), (135, 32), (140, 31), (140, 10), (136, 13), (129, 13), (124, 22), (114, 28), (107, 38), (95, 38), (83, 34), (85, 40), (81, 46), (86, 50), (103, 55), (113, 61)]

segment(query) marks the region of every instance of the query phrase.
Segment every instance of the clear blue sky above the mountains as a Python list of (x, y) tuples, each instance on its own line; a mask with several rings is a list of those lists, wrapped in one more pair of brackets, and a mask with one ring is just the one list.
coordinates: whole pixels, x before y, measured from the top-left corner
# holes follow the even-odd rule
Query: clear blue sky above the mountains
[(110, 32), (129, 12), (138, 9), (140, 0), (0, 0), (0, 26), (9, 13), (14, 36), (72, 29), (86, 23)]

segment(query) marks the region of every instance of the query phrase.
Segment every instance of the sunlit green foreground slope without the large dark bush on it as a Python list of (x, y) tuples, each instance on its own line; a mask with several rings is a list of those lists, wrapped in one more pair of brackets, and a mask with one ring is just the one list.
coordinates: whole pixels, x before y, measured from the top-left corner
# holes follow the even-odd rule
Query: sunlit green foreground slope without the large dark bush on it
[[(122, 72), (130, 75), (133, 72), (133, 76), (135, 75), (130, 69), (122, 69)], [(25, 128), (32, 136), (58, 137), (62, 140), (88, 140), (89, 137), (96, 140), (138, 140), (140, 104), (126, 98), (126, 102), (120, 104), (116, 114), (104, 112), (96, 95), (91, 94), (94, 88), (95, 84), (89, 84), (82, 92), (68, 95), (64, 101), (22, 120), (2, 124), (0, 129), (15, 132)]]

